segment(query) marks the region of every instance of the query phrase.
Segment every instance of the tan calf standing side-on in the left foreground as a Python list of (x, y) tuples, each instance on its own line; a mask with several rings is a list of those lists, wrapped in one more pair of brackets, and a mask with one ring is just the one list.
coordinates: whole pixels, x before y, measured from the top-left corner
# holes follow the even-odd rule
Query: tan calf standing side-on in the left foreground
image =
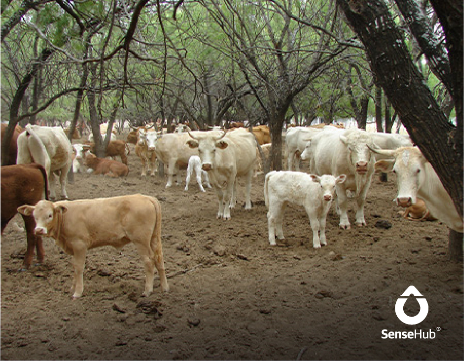
[[(161, 244), (161, 207), (156, 198), (141, 194), (77, 201), (40, 201), (24, 205), (18, 212), (33, 216), (35, 234), (51, 237), (73, 256), (73, 299), (82, 296), (87, 250), (113, 246), (121, 250), (132, 242), (145, 268), (143, 296), (153, 291), (154, 267), (161, 289), (169, 289)], [(102, 221), (104, 220), (104, 221)]]

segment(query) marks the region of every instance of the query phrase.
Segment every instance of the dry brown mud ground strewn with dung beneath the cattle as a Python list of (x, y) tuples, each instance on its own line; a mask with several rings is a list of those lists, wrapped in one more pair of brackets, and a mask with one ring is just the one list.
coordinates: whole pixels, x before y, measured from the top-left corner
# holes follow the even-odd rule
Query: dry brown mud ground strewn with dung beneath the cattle
[[(223, 221), (215, 219), (213, 190), (199, 193), (193, 180), (188, 191), (165, 189), (166, 177), (141, 178), (133, 151), (129, 167), (122, 179), (77, 174), (68, 194), (158, 197), (169, 293), (156, 279), (150, 297), (140, 297), (143, 268), (127, 245), (122, 253), (87, 253), (84, 294), (72, 301), (71, 257), (45, 238), (45, 263), (17, 272), (25, 234), (8, 225), (2, 360), (463, 360), (463, 264), (447, 260), (446, 226), (396, 214), (393, 174), (388, 183), (374, 176), (366, 227), (338, 230), (333, 206), (328, 245), (315, 250), (299, 207), (287, 208), (285, 241), (269, 246), (262, 175), (253, 179), (253, 210), (240, 207)], [(392, 227), (377, 228), (381, 219)], [(396, 299), (411, 285), (429, 306), (414, 326), (395, 315)], [(405, 312), (416, 315), (418, 302), (408, 300)], [(435, 338), (382, 339), (383, 329), (432, 330)]]

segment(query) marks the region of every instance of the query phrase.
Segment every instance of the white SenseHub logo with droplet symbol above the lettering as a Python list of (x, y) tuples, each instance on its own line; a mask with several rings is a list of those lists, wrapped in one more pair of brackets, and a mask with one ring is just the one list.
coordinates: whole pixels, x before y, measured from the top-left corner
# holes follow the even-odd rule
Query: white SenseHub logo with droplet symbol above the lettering
[[(419, 306), (421, 307), (419, 313), (416, 316), (408, 316), (404, 313), (404, 305), (408, 300), (408, 296), (416, 296)], [(400, 297), (398, 298), (395, 304), (395, 313), (398, 319), (406, 325), (417, 325), (420, 324), (428, 314), (428, 303), (421, 292), (414, 286), (409, 286)], [(440, 327), (437, 327), (437, 331), (440, 331)], [(387, 329), (382, 329), (382, 338), (423, 338), (423, 339), (433, 339), (435, 338), (435, 332), (429, 329), (428, 331), (422, 331), (422, 329), (414, 331), (388, 331)]]

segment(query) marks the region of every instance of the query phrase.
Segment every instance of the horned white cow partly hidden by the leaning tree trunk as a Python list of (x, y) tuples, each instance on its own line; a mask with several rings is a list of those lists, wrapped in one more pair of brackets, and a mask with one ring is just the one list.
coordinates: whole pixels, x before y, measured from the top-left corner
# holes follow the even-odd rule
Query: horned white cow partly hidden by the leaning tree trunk
[(392, 170), (396, 174), (398, 206), (409, 207), (421, 198), (433, 217), (456, 232), (464, 232), (463, 218), (418, 147), (407, 146), (395, 150), (371, 147), (371, 150), (390, 158), (377, 161), (376, 168), (383, 172)]

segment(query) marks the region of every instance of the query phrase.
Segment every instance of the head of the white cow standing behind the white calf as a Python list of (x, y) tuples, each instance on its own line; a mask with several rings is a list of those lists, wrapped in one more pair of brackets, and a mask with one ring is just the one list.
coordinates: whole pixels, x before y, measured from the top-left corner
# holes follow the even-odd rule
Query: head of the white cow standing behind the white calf
[(355, 168), (357, 174), (364, 176), (370, 170), (374, 171), (375, 157), (372, 157), (369, 146), (378, 148), (372, 139), (365, 134), (351, 132), (348, 135), (340, 135), (340, 141), (348, 149), (347, 161)]

